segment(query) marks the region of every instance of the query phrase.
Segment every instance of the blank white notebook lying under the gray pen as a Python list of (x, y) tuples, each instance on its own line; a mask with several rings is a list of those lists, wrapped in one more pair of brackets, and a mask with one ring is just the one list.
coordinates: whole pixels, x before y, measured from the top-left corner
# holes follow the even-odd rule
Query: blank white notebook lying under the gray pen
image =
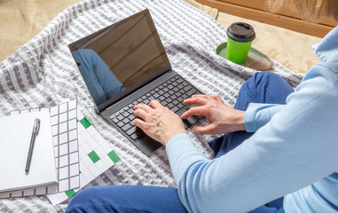
[[(25, 171), (35, 118), (40, 130)], [(0, 193), (58, 183), (49, 111), (0, 117)]]

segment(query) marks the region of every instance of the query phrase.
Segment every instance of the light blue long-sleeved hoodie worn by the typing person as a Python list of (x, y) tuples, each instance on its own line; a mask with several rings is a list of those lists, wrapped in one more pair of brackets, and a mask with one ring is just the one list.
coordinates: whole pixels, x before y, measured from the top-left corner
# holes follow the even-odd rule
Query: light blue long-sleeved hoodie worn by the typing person
[(189, 212), (248, 212), (285, 196), (286, 212), (338, 211), (338, 27), (315, 48), (321, 60), (286, 105), (250, 104), (255, 134), (208, 159), (186, 134), (166, 147)]

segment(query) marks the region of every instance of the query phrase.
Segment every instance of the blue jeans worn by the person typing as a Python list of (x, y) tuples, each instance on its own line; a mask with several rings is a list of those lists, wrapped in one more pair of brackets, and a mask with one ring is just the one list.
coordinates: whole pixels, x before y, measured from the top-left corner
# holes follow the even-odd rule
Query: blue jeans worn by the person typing
[[(240, 89), (235, 108), (248, 104), (285, 104), (293, 89), (279, 75), (257, 73)], [(226, 154), (252, 134), (246, 131), (224, 134), (210, 142), (216, 157)], [(245, 203), (245, 201), (243, 201)], [(251, 213), (283, 213), (283, 198), (271, 201)], [(70, 201), (66, 212), (186, 212), (176, 188), (145, 185), (102, 185), (84, 189)]]

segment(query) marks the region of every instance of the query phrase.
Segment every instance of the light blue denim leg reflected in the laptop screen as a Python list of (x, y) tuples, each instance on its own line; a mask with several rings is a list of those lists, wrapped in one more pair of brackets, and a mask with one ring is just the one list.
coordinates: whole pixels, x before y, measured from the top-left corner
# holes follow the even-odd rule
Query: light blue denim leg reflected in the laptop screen
[(81, 49), (72, 51), (72, 54), (97, 106), (125, 91), (123, 84), (98, 53), (91, 49)]

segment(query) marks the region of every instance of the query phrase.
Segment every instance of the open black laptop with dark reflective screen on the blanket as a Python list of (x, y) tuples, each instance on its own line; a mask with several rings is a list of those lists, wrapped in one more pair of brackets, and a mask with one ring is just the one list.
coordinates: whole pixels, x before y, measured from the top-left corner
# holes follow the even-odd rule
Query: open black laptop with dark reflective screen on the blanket
[[(132, 124), (133, 106), (157, 99), (177, 114), (188, 107), (184, 99), (202, 94), (171, 69), (160, 36), (146, 9), (69, 44), (95, 111), (146, 155), (161, 144)], [(184, 121), (185, 128), (200, 116)]]

